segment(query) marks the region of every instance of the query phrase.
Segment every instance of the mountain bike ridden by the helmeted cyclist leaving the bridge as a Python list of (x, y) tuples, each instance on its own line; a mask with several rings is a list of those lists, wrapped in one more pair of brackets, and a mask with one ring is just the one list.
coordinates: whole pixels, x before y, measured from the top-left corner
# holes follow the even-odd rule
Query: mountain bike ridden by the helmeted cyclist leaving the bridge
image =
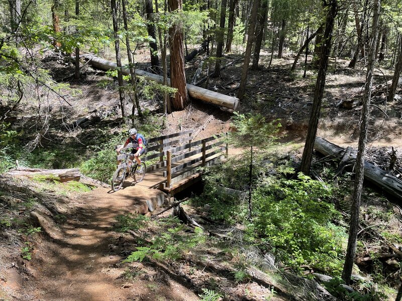
[(112, 190), (118, 191), (123, 186), (123, 182), (126, 178), (132, 177), (136, 183), (141, 182), (144, 179), (147, 166), (145, 162), (141, 162), (141, 168), (137, 162), (130, 159), (130, 153), (121, 152), (118, 156), (118, 160), (121, 160), (121, 164), (117, 167), (117, 170), (113, 174), (112, 178)]

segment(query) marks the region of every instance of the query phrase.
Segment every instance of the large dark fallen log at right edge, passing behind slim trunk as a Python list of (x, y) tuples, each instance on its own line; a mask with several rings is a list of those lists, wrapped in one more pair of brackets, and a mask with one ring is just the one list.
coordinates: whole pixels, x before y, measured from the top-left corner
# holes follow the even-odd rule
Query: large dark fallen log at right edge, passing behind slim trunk
[[(331, 158), (342, 157), (346, 151), (343, 147), (320, 137), (316, 138), (314, 148), (317, 152)], [(356, 160), (356, 150), (350, 154), (349, 159)], [(364, 179), (402, 200), (402, 181), (367, 161), (364, 161)]]

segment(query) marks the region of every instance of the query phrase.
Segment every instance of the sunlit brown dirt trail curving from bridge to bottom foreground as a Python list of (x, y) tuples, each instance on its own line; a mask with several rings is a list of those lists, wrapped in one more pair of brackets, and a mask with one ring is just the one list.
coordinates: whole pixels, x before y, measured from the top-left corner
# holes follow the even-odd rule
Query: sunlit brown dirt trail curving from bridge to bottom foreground
[[(160, 195), (156, 189), (125, 183), (112, 193), (97, 188), (72, 200), (73, 212), (58, 229), (47, 233), (35, 252), (30, 270), (32, 291), (40, 300), (196, 300), (192, 291), (170, 280), (139, 279), (126, 283), (122, 260), (133, 251), (121, 234), (113, 231), (119, 214), (148, 208), (145, 201)], [(146, 268), (138, 266), (138, 268)], [(154, 271), (155, 272), (155, 271)], [(146, 281), (147, 280), (147, 281)], [(152, 284), (152, 285), (151, 285)]]

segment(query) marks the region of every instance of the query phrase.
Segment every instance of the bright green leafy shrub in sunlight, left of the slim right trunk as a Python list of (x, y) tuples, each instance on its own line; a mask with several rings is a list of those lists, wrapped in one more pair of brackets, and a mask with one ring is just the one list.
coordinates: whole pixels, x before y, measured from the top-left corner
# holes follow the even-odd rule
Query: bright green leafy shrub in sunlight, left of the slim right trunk
[(258, 187), (253, 200), (258, 211), (253, 228), (260, 237), (282, 253), (286, 264), (312, 264), (340, 272), (345, 230), (331, 223), (338, 216), (326, 201), (331, 188), (298, 175)]

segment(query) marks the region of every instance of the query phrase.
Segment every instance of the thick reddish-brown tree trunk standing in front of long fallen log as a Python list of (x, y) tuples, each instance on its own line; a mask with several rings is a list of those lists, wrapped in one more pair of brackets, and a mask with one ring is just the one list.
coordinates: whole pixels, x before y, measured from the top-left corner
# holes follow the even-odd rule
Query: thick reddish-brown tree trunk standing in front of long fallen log
[[(182, 10), (181, 0), (168, 0), (169, 12)], [(184, 71), (183, 26), (178, 22), (169, 28), (170, 83), (177, 92), (172, 99), (173, 110), (183, 110), (188, 104)]]

